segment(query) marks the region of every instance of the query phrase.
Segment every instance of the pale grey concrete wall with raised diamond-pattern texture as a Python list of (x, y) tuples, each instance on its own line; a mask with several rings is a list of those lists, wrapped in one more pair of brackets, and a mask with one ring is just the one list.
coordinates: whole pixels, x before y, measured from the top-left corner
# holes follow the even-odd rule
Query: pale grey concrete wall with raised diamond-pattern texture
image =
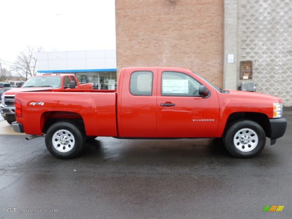
[(252, 60), (257, 91), (286, 106), (292, 105), (291, 21), (291, 0), (238, 0), (237, 69), (239, 61)]

